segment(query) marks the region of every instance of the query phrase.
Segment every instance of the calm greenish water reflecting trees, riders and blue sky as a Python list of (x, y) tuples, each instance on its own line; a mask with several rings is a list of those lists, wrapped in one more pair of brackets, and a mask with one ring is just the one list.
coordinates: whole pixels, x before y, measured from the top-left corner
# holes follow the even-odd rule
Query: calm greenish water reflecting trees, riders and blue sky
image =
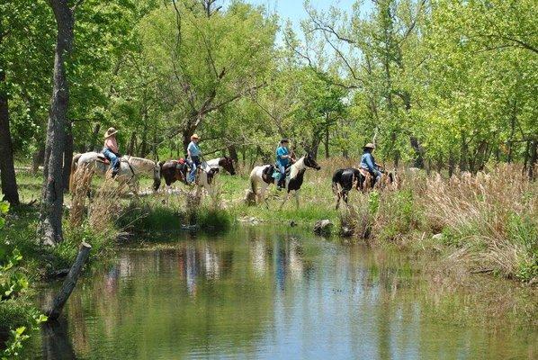
[(536, 328), (481, 313), (492, 308), (480, 296), (443, 289), (397, 253), (254, 228), (118, 253), (34, 337), (35, 357), (538, 356)]

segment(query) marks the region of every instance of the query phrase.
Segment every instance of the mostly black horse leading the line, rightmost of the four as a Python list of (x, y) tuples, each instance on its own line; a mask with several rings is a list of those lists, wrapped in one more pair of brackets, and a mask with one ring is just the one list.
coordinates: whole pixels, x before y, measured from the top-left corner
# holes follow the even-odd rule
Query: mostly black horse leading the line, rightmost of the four
[(372, 175), (366, 170), (348, 167), (336, 170), (332, 179), (333, 193), (336, 195), (336, 210), (340, 206), (340, 200), (344, 199), (347, 205), (348, 193), (355, 188), (363, 193), (375, 188), (385, 189), (394, 183), (395, 174), (392, 172), (381, 172), (381, 179), (373, 184)]

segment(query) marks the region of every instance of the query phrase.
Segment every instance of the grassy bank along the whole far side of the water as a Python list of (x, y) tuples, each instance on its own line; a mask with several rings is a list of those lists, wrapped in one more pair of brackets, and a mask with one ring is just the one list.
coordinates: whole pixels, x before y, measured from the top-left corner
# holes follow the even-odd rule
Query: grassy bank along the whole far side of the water
[[(54, 279), (68, 268), (81, 241), (93, 246), (90, 266), (94, 266), (110, 258), (118, 240), (123, 244), (137, 242), (132, 239), (135, 237), (148, 243), (170, 238), (174, 232), (222, 233), (240, 223), (298, 227), (311, 232), (317, 220), (327, 219), (334, 224), (332, 239), (336, 241), (345, 229), (347, 237), (342, 241), (347, 243), (440, 259), (445, 266), (438, 278), (488, 274), (524, 286), (536, 284), (537, 184), (518, 175), (516, 167), (499, 166), (488, 174), (450, 180), (421, 172), (400, 174), (394, 190), (352, 192), (350, 206), (336, 211), (330, 178), (336, 167), (351, 164), (339, 160), (321, 165), (321, 171), (307, 172), (298, 210), (291, 200), (278, 211), (283, 193), (274, 187), (267, 193), (268, 209), (248, 205), (248, 177), (241, 171), (236, 176), (220, 175), (214, 197), (195, 196), (183, 184), (176, 184), (172, 194), (145, 191), (147, 194), (136, 199), (126, 189), (115, 190), (115, 184), (94, 181), (92, 203), (86, 198), (85, 188), (74, 196), (67, 195), (66, 240), (54, 248), (35, 243), (39, 208), (33, 200), (38, 198), (41, 178), (22, 172), (18, 180), (22, 202), (27, 204), (13, 208), (8, 215), (3, 248), (10, 253), (15, 248), (21, 251), (22, 272), (31, 284), (37, 284)], [(150, 179), (141, 182), (143, 190), (150, 185)], [(29, 289), (21, 303), (28, 304), (31, 294)], [(528, 299), (533, 308), (532, 298)], [(16, 312), (19, 307), (11, 308), (13, 311), (0, 314), (4, 324), (21, 316)]]

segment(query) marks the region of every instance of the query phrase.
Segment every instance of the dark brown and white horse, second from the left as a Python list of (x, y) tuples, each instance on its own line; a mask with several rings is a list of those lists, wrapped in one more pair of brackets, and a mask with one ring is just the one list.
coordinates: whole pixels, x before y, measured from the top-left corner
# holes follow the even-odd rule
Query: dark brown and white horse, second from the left
[[(181, 160), (168, 160), (166, 163), (159, 163), (161, 169), (161, 177), (165, 179), (166, 190), (170, 189), (170, 186), (176, 181), (181, 181), (187, 184), (187, 175), (189, 174), (189, 168), (186, 162)], [(224, 169), (229, 175), (236, 175), (236, 169), (234, 167), (234, 161), (231, 157), (217, 157), (209, 161), (204, 161), (198, 166), (196, 173), (196, 184), (199, 187), (211, 188), (215, 175), (220, 172), (220, 169)], [(160, 179), (159, 186), (160, 187)]]

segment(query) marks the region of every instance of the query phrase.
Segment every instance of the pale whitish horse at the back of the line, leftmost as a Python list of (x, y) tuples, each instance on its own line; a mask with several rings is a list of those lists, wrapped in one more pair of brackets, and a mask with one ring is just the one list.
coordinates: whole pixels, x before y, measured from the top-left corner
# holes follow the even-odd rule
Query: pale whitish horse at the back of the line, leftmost
[[(73, 180), (76, 168), (80, 166), (88, 166), (94, 169), (99, 175), (106, 175), (110, 168), (110, 164), (103, 157), (103, 154), (98, 152), (86, 152), (84, 154), (76, 154), (71, 162), (71, 172), (69, 175), (69, 190), (73, 190)], [(153, 175), (153, 190), (157, 192), (161, 184), (161, 167), (154, 161), (142, 157), (131, 157), (124, 155), (121, 157), (120, 171), (116, 175), (116, 179), (121, 183), (129, 185), (130, 189), (138, 195), (139, 193), (139, 175)]]

